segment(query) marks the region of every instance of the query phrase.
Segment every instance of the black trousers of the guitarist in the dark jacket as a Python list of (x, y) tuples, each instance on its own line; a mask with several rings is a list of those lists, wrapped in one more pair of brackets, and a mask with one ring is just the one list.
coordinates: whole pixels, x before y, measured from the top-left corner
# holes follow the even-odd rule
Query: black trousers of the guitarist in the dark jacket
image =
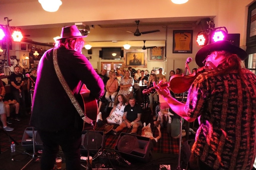
[(71, 128), (58, 132), (38, 130), (43, 142), (43, 153), (41, 158), (41, 170), (53, 169), (55, 158), (61, 146), (65, 159), (66, 169), (80, 169), (80, 146), (82, 132)]

